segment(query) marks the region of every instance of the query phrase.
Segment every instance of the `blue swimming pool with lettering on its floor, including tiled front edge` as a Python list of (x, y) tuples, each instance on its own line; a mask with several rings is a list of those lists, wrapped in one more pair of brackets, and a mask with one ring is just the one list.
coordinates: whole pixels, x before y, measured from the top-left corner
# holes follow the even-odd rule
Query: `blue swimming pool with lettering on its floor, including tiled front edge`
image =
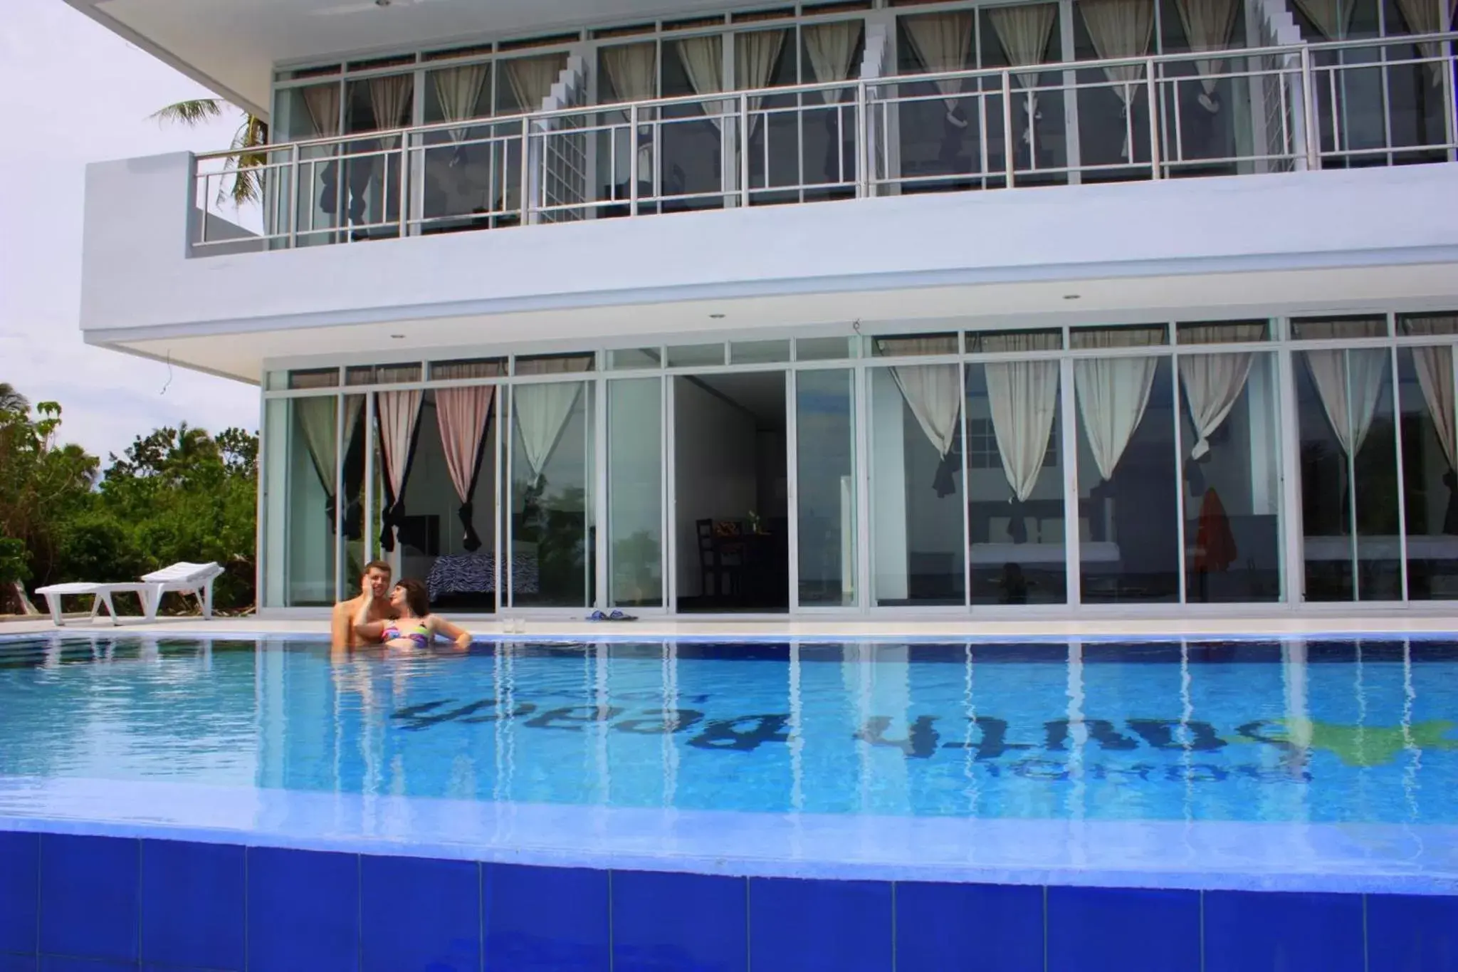
[[(117, 880), (140, 889), (143, 940), (117, 955), (143, 965), (147, 921), (166, 915), (223, 921), (210, 941), (252, 943), (258, 924), (261, 944), (163, 949), (165, 965), (290, 968), (258, 956), (270, 936), (292, 955), (315, 925), (241, 902), (262, 887), (313, 914), (324, 871), (305, 880), (267, 857), (308, 853), (353, 861), (338, 953), (385, 956), (340, 968), (905, 972), (962, 968), (1000, 941), (1018, 957), (989, 968), (1029, 972), (1250, 969), (1271, 949), (1322, 972), (1448, 969), (1455, 726), (1458, 641), (1442, 638), (612, 638), (465, 656), (12, 638), (0, 864), (31, 860), (7, 838), (35, 836), (41, 938), (23, 952), (36, 962), (47, 869), (66, 841), (104, 839), (121, 848)], [(89, 886), (105, 854), (70, 853)], [(198, 917), (165, 882), (147, 892), (178, 854), (188, 886), (232, 896)], [(397, 882), (420, 901), (401, 902)], [(445, 889), (474, 902), (451, 936), (429, 906)], [(583, 895), (605, 908), (590, 934), (555, 906)], [(535, 905), (503, 918), (516, 899)], [(416, 915), (416, 957), (370, 943), (383, 933), (363, 915), (383, 902)], [(525, 925), (547, 957), (521, 959)], [(583, 936), (596, 957), (577, 962)], [(697, 944), (634, 952), (663, 936)], [(0, 920), (9, 972), (6, 953)]]

